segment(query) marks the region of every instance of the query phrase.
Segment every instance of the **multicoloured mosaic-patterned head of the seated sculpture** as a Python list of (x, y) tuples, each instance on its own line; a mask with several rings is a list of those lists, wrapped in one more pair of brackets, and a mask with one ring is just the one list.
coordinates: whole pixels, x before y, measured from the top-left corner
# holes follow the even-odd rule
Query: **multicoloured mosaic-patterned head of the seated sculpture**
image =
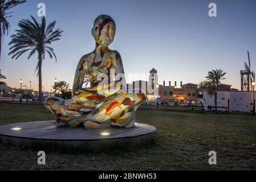
[(108, 15), (99, 15), (94, 21), (92, 36), (95, 41), (103, 46), (111, 44), (115, 38), (116, 24)]

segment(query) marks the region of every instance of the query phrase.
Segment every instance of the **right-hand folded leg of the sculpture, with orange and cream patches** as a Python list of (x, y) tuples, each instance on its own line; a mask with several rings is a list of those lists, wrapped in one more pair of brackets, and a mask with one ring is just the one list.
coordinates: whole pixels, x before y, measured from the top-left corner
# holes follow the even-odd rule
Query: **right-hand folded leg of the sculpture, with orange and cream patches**
[(145, 100), (143, 93), (120, 93), (105, 101), (88, 114), (83, 123), (86, 129), (101, 127), (133, 127), (135, 111)]

